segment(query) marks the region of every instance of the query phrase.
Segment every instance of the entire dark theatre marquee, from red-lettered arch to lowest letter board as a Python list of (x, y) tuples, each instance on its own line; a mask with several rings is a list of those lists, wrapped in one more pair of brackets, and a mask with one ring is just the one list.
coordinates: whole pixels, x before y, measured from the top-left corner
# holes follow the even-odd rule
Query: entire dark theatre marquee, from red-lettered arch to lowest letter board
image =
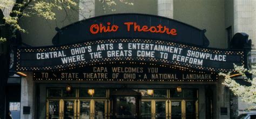
[(16, 71), (32, 71), (36, 80), (217, 81), (214, 73), (233, 72), (250, 58), (246, 49), (209, 48), (206, 30), (160, 16), (105, 15), (56, 30), (52, 46), (17, 49)]

